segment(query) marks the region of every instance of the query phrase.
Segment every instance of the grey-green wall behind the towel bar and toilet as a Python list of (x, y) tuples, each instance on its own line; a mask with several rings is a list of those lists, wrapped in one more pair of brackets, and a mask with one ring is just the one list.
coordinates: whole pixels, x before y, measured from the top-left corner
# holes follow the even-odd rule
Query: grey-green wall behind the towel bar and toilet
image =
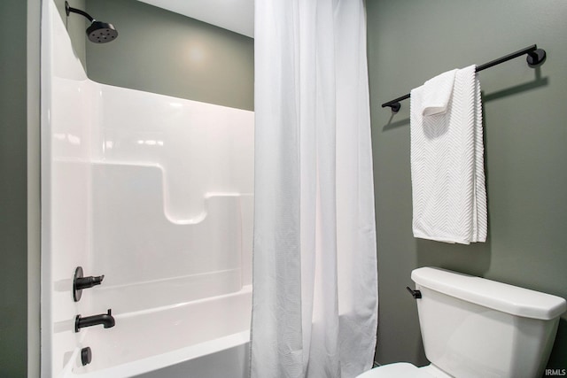
[[(567, 3), (562, 0), (368, 0), (379, 327), (377, 361), (427, 363), (412, 269), (455, 271), (567, 297)], [(489, 237), (453, 245), (412, 236), (409, 101), (380, 104), (452, 68), (483, 64), (537, 43), (547, 62), (524, 58), (480, 74), (484, 92)], [(563, 314), (548, 366), (567, 368)]]

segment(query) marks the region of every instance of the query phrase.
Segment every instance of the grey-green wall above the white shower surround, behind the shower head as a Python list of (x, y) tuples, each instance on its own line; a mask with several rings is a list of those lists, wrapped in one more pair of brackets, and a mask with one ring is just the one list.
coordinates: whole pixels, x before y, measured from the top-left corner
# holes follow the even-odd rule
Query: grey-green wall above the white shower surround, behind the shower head
[(252, 38), (135, 0), (88, 0), (87, 12), (119, 32), (87, 42), (90, 79), (253, 109)]

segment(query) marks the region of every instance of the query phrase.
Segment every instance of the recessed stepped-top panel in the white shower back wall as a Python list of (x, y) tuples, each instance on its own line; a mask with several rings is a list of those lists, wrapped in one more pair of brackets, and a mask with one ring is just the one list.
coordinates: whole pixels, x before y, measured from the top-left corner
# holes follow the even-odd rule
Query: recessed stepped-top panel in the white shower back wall
[(164, 214), (159, 166), (95, 164), (91, 186), (92, 269), (104, 271), (108, 285), (241, 267), (250, 195), (206, 196), (206, 217), (183, 224)]

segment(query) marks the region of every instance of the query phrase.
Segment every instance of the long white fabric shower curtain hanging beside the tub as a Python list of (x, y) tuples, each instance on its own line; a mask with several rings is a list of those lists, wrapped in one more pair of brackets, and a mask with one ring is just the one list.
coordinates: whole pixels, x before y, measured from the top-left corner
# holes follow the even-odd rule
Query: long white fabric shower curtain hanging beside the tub
[(362, 0), (255, 1), (252, 378), (349, 378), (376, 346)]

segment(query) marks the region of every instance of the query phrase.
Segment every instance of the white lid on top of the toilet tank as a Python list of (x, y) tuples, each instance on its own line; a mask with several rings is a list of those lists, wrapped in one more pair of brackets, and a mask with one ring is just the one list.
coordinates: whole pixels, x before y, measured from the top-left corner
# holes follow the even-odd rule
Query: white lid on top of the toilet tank
[(524, 318), (551, 320), (567, 310), (562, 297), (446, 269), (420, 267), (412, 271), (411, 279), (447, 296)]

